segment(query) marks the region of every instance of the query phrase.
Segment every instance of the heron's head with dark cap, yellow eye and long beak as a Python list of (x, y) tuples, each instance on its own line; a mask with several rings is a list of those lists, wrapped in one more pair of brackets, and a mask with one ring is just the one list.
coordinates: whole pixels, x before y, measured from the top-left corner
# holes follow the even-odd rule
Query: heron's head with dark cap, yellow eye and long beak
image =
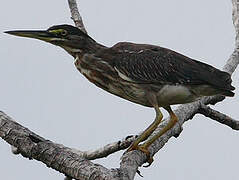
[(16, 30), (5, 33), (49, 42), (64, 48), (70, 54), (90, 51), (96, 44), (89, 35), (67, 24), (55, 25), (47, 30)]

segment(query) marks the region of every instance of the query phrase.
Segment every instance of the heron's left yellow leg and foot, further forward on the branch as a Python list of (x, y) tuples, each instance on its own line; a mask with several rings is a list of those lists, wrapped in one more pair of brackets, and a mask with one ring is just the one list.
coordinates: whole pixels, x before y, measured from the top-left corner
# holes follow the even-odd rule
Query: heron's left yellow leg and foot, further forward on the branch
[(133, 151), (133, 150), (141, 150), (141, 151), (145, 152), (146, 154), (148, 154), (146, 152), (146, 150), (139, 147), (139, 143), (146, 140), (152, 134), (152, 132), (158, 127), (159, 123), (161, 122), (161, 120), (163, 118), (163, 115), (162, 115), (159, 107), (155, 106), (154, 109), (156, 111), (156, 118), (155, 118), (154, 122), (139, 137), (136, 138), (136, 140), (127, 149), (127, 152)]

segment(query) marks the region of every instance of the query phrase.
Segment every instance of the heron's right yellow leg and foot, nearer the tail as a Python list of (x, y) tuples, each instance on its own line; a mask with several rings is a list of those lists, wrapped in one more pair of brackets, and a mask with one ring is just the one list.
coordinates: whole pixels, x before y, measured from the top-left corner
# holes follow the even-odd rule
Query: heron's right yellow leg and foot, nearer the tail
[(169, 115), (170, 115), (170, 121), (169, 123), (157, 134), (155, 134), (152, 138), (150, 138), (148, 141), (146, 141), (145, 143), (143, 143), (142, 145), (139, 146), (139, 150), (141, 150), (142, 152), (146, 153), (146, 155), (148, 156), (148, 165), (145, 167), (148, 167), (152, 164), (153, 162), (153, 157), (150, 157), (149, 151), (148, 151), (148, 147), (154, 142), (156, 141), (158, 138), (160, 138), (164, 133), (166, 133), (169, 129), (171, 129), (176, 122), (178, 121), (177, 116), (174, 114), (174, 112), (172, 111), (171, 107), (167, 107), (165, 108)]

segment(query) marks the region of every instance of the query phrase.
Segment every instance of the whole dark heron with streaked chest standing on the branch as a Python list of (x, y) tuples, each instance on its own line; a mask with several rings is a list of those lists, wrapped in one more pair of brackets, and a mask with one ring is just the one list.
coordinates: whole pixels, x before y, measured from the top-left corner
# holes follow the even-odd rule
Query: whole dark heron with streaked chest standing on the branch
[[(197, 101), (205, 96), (233, 97), (229, 73), (173, 50), (150, 44), (119, 42), (106, 47), (72, 25), (46, 30), (14, 30), (5, 33), (42, 40), (59, 46), (75, 59), (75, 66), (99, 88), (136, 104), (154, 108), (155, 120), (126, 152), (140, 150), (153, 162), (149, 146), (177, 122), (171, 105)], [(169, 123), (150, 136), (161, 123), (164, 108)]]

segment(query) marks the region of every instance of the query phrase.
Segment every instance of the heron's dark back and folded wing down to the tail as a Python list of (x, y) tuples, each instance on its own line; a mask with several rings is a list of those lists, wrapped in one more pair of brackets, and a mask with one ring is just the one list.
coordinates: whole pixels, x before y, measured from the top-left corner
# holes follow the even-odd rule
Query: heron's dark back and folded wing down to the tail
[(209, 85), (234, 95), (230, 74), (167, 48), (122, 42), (98, 56), (134, 83)]

